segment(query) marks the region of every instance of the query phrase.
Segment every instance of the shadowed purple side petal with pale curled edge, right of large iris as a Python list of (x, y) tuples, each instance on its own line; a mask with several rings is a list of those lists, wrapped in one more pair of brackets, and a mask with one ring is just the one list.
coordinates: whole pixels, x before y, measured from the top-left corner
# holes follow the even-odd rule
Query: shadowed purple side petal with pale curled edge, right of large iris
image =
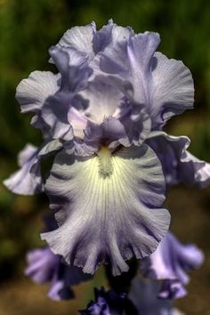
[(167, 184), (184, 182), (188, 185), (197, 184), (201, 188), (209, 185), (210, 164), (190, 154), (187, 150), (190, 146), (188, 137), (153, 133), (147, 143), (162, 163)]

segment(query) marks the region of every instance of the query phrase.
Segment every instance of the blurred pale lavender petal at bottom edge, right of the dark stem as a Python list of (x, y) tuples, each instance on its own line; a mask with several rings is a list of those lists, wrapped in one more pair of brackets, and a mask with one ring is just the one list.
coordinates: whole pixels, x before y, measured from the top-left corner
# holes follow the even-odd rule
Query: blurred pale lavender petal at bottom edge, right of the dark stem
[(156, 280), (133, 279), (129, 299), (139, 315), (184, 315), (174, 308), (171, 300), (158, 299), (161, 284)]

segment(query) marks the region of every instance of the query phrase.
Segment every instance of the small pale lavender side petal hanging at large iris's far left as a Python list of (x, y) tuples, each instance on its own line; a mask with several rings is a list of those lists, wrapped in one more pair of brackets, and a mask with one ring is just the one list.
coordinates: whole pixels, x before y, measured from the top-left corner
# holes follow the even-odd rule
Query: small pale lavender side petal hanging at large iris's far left
[(38, 149), (27, 144), (19, 153), (20, 170), (13, 173), (4, 185), (12, 192), (20, 195), (33, 195), (43, 190), (39, 165)]

